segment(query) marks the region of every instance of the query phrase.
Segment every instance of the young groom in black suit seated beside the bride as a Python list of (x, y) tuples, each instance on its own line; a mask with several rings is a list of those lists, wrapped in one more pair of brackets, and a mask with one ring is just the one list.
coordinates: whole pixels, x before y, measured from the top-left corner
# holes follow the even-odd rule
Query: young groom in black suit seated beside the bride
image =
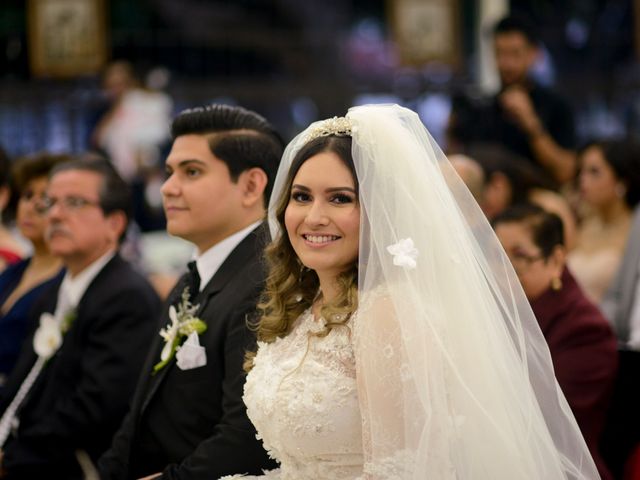
[(167, 230), (197, 257), (169, 295), (131, 410), (100, 459), (103, 479), (212, 479), (274, 466), (246, 415), (242, 364), (283, 142), (261, 116), (227, 105), (181, 113), (172, 136)]

